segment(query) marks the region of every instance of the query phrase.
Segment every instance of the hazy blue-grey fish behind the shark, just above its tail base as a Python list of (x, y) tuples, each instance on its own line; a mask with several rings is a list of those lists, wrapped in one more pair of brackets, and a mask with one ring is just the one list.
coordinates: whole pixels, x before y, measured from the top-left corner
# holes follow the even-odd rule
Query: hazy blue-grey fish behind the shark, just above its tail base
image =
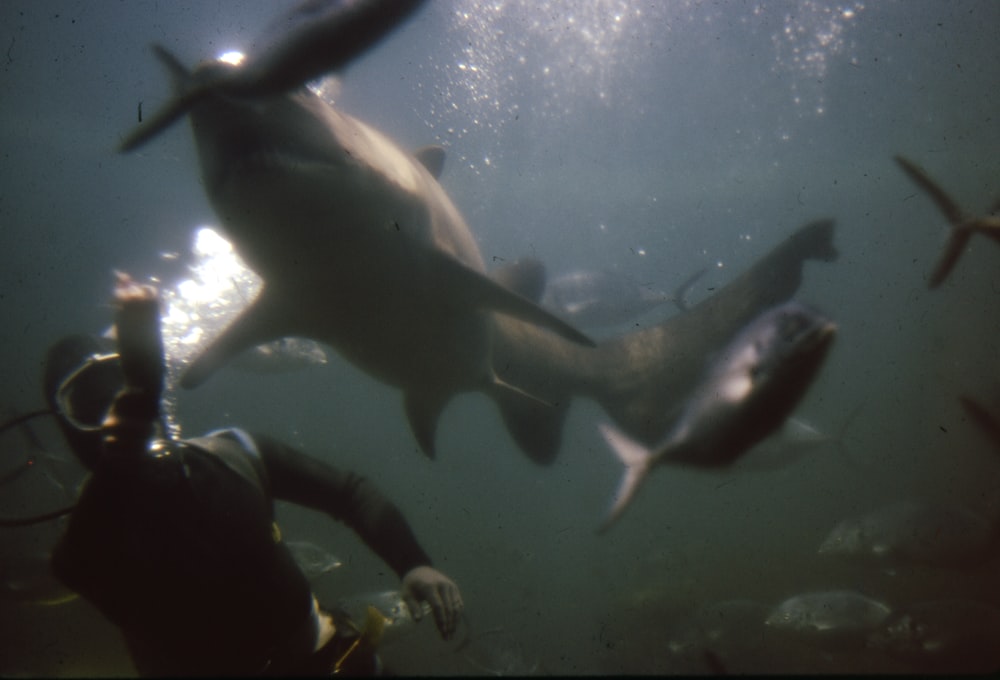
[(687, 311), (685, 296), (704, 273), (698, 270), (667, 293), (621, 272), (577, 270), (546, 284), (542, 306), (580, 328), (617, 326), (668, 303)]

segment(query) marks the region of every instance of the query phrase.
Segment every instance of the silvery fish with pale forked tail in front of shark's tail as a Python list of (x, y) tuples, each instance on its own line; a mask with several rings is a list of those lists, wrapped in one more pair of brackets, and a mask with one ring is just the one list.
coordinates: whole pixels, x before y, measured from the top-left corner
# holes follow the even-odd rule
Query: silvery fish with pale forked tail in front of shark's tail
[(621, 516), (657, 465), (725, 467), (780, 427), (818, 374), (835, 332), (832, 321), (798, 302), (772, 307), (719, 354), (655, 450), (601, 424), (625, 475), (599, 531)]

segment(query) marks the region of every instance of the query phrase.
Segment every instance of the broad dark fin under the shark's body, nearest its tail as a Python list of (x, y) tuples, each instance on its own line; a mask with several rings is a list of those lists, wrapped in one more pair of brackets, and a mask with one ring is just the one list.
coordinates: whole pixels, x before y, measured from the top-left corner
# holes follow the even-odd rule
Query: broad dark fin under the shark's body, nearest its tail
[(550, 403), (499, 378), (489, 394), (496, 401), (510, 436), (538, 465), (551, 465), (562, 443), (570, 400)]

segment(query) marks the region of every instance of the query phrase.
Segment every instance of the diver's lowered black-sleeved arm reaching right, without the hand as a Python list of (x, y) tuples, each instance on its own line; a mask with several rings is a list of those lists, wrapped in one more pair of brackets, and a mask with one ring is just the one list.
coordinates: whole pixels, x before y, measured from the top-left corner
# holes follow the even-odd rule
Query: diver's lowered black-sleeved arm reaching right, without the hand
[(345, 522), (400, 578), (414, 567), (431, 564), (403, 513), (370, 481), (267, 435), (253, 438), (275, 498)]

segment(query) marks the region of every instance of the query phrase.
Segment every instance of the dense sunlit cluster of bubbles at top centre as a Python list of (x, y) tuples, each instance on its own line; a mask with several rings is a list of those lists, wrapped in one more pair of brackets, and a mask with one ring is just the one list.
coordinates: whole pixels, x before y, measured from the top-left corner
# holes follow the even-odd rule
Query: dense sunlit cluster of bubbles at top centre
[[(623, 73), (640, 65), (634, 42), (651, 30), (647, 10), (626, 0), (458, 0), (450, 33), (459, 41), (432, 59), (437, 90), (426, 112), (443, 141), (470, 132), (497, 133), (530, 98), (535, 117), (572, 113), (581, 100), (608, 102)], [(620, 101), (620, 100), (619, 100)], [(489, 155), (471, 163), (489, 166)]]

